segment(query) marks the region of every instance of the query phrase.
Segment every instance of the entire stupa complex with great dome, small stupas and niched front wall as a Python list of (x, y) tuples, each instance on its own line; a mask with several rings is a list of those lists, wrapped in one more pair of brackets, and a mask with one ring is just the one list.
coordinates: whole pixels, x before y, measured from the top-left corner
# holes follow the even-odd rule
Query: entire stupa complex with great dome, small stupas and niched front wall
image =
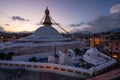
[[(117, 64), (115, 59), (96, 48), (94, 37), (90, 39), (90, 48), (85, 54), (76, 55), (72, 48), (75, 49), (81, 45), (84, 43), (63, 37), (52, 27), (49, 10), (46, 8), (43, 26), (32, 35), (6, 42), (4, 45), (0, 44), (0, 49), (3, 51), (18, 53), (12, 57), (12, 61), (1, 60), (0, 67), (50, 72), (87, 79), (102, 74)], [(62, 51), (63, 48), (64, 51)], [(31, 62), (31, 58), (36, 58), (39, 62)]]

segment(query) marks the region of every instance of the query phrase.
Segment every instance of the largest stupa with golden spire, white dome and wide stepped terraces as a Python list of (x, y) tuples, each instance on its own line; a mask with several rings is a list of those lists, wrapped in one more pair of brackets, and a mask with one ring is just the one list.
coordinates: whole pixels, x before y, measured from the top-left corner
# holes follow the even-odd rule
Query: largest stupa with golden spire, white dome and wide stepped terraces
[(83, 46), (83, 43), (80, 41), (63, 37), (55, 28), (53, 28), (52, 24), (50, 12), (47, 7), (45, 10), (43, 26), (40, 26), (28, 37), (6, 42), (6, 48), (4, 50), (17, 52), (19, 54), (28, 54), (53, 51), (54, 47), (62, 49), (62, 47), (75, 48), (76, 46)]

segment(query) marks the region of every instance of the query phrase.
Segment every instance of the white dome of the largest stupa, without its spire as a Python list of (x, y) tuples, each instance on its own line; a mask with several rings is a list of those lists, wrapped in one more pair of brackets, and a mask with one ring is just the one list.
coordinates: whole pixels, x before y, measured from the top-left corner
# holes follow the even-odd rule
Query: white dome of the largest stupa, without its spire
[(33, 35), (38, 37), (62, 37), (55, 28), (46, 25), (38, 28)]

